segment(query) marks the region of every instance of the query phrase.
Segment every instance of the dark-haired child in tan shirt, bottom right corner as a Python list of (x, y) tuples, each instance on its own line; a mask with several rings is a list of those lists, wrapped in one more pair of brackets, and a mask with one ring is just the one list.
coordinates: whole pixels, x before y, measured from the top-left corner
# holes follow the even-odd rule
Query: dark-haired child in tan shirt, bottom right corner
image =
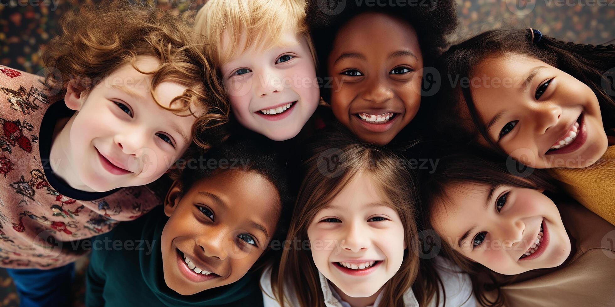
[(582, 206), (551, 200), (541, 172), (468, 153), (440, 159), (419, 180), (423, 225), (470, 274), (482, 306), (606, 306), (615, 300), (615, 227)]

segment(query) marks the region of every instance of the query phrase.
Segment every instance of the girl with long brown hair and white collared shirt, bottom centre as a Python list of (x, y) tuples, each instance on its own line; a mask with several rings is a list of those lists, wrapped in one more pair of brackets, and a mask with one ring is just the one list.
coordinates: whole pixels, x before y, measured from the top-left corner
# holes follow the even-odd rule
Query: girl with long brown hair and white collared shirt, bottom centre
[(315, 140), (282, 258), (261, 278), (265, 306), (473, 306), (467, 276), (418, 273), (402, 158), (339, 129)]

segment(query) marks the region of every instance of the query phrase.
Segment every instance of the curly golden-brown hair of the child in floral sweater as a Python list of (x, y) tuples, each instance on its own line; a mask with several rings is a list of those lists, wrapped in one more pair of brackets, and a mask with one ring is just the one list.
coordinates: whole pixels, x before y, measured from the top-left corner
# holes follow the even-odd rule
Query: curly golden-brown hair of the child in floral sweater
[[(224, 138), (217, 128), (228, 121), (229, 104), (212, 60), (193, 40), (193, 21), (194, 14), (121, 1), (81, 6), (62, 17), (59, 34), (42, 47), (45, 84), (60, 93), (70, 84), (87, 94), (116, 69), (131, 64), (151, 75), (151, 93), (165, 81), (188, 87), (169, 107), (154, 101), (175, 114), (186, 116), (189, 111), (188, 116), (196, 117), (192, 139), (207, 150)], [(154, 71), (140, 71), (137, 56), (154, 56), (160, 64)], [(192, 106), (203, 115), (197, 116)]]

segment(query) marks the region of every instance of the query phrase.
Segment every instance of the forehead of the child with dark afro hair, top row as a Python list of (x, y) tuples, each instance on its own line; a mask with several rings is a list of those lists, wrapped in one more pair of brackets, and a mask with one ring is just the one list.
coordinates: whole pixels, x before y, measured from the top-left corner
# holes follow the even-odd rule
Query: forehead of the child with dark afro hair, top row
[(389, 56), (391, 51), (398, 49), (410, 49), (421, 59), (415, 28), (407, 21), (387, 14), (363, 13), (339, 29), (331, 53), (373, 50), (377, 55)]

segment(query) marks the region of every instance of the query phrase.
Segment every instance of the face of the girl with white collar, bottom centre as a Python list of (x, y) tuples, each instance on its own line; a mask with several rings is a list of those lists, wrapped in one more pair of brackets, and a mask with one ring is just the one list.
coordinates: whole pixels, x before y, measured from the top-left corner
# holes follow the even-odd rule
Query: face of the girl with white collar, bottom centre
[(308, 228), (314, 264), (351, 297), (381, 289), (399, 270), (406, 248), (400, 217), (376, 186), (370, 176), (355, 175)]

